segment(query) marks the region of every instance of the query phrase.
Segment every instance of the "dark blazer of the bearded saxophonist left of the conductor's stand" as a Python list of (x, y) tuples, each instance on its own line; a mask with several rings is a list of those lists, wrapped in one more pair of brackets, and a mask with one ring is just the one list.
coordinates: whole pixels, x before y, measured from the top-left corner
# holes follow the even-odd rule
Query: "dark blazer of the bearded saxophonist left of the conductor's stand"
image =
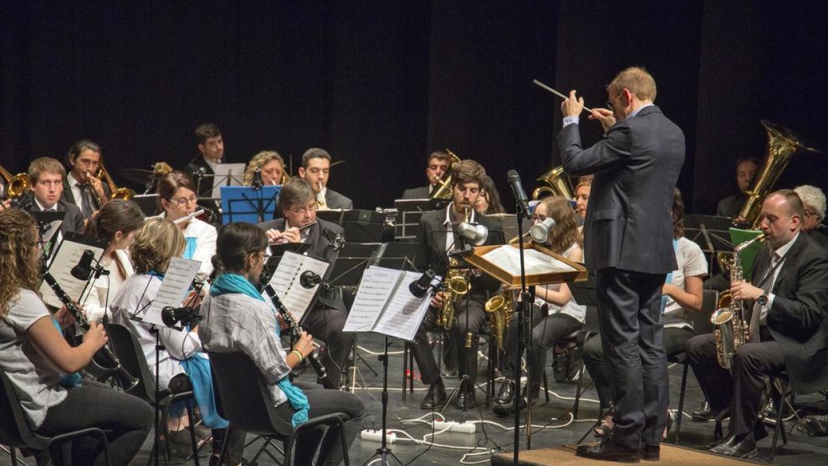
[[(420, 231), (417, 233), (419, 249), (414, 264), (420, 272), (425, 272), (426, 269), (431, 267), (435, 274), (444, 278), (449, 267), (449, 256), (445, 253), (445, 235), (449, 232), (445, 231), (443, 225), (445, 211), (448, 208), (446, 206), (439, 211), (426, 212), (420, 217)], [(484, 245), (503, 244), (503, 229), (498, 221), (493, 221), (482, 214), (476, 214), (474, 220), (489, 229), (489, 236), (486, 238)], [(456, 231), (457, 227), (452, 226), (452, 232)], [(472, 276), (470, 283), (470, 294), (482, 299), (486, 299), (490, 293), (497, 291), (500, 286), (496, 279), (489, 277), (487, 274)]]

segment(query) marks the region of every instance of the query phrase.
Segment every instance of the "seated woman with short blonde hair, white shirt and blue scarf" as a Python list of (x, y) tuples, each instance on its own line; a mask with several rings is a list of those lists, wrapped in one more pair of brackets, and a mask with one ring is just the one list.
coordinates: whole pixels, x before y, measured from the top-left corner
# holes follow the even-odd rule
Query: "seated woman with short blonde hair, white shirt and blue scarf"
[[(173, 392), (195, 391), (201, 419), (213, 430), (213, 452), (218, 453), (226, 434), (227, 421), (218, 415), (215, 408), (213, 386), (209, 382), (209, 362), (200, 354), (201, 342), (198, 333), (195, 329), (176, 330), (135, 319), (141, 318), (156, 298), (171, 259), (181, 255), (185, 245), (186, 240), (181, 229), (171, 221), (161, 218), (145, 221), (135, 232), (129, 248), (135, 274), (124, 282), (109, 308), (113, 323), (119, 323), (137, 335), (143, 356), (147, 358), (147, 365), (152, 371), (156, 370), (156, 335), (150, 330), (154, 328), (158, 331), (158, 341), (164, 347), (157, 352), (158, 386), (160, 390), (169, 389)], [(182, 306), (197, 306), (198, 303), (198, 296), (195, 291), (191, 291)], [(167, 433), (163, 438), (171, 454), (176, 457), (186, 455), (190, 450), (189, 430), (192, 427), (187, 425), (187, 421), (185, 402), (182, 401), (171, 408), (166, 425)], [(238, 434), (238, 437), (233, 434), (229, 439), (233, 444), (231, 451), (236, 453), (230, 457), (234, 461), (232, 464), (238, 464), (240, 461), (239, 445), (243, 446), (243, 441), (243, 434)]]

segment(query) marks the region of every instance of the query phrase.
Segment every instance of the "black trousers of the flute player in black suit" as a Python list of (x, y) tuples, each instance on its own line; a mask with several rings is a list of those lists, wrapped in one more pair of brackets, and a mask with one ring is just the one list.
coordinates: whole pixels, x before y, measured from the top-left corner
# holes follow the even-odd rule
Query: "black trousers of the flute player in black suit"
[(339, 386), (339, 378), (347, 369), (354, 333), (343, 332), (348, 313), (332, 308), (313, 308), (305, 316), (301, 327), (315, 338), (325, 342), (327, 352), (320, 357), (330, 381)]

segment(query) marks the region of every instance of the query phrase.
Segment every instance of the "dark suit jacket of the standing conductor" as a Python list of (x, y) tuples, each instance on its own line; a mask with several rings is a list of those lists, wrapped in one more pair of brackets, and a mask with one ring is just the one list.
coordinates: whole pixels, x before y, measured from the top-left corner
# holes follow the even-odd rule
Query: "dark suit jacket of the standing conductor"
[(587, 269), (666, 274), (676, 269), (672, 199), (684, 163), (684, 133), (652, 105), (582, 148), (577, 124), (558, 136), (570, 176), (595, 173), (584, 226)]

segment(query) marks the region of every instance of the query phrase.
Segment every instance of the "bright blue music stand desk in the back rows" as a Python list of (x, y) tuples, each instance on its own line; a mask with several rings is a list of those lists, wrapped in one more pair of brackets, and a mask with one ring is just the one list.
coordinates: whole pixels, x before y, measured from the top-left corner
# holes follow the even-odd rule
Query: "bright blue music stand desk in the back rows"
[(281, 186), (221, 187), (222, 223), (226, 225), (233, 221), (244, 221), (256, 225), (273, 220), (280, 191)]

